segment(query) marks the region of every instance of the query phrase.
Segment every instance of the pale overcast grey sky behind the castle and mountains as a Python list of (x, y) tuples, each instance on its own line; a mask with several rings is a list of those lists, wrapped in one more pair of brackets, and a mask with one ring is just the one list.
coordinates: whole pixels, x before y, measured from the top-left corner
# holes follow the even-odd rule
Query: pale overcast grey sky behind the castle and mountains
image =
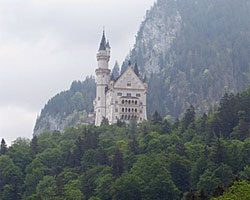
[(31, 138), (45, 103), (94, 75), (103, 27), (121, 64), (154, 1), (1, 0), (0, 139)]

